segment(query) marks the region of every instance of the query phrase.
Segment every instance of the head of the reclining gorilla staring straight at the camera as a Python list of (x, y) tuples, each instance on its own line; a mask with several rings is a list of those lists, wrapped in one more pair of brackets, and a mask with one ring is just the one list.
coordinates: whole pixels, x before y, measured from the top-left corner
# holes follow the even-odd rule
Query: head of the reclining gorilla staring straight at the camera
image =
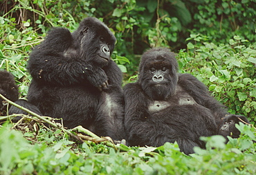
[(165, 100), (176, 90), (178, 63), (174, 53), (156, 48), (145, 52), (140, 61), (139, 83), (153, 100)]

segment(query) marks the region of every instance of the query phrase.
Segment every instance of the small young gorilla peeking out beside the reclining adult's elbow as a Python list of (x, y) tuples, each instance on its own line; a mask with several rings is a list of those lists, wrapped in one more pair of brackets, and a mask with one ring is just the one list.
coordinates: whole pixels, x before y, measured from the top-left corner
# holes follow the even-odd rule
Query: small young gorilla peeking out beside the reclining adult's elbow
[(238, 124), (239, 122), (244, 124), (250, 123), (245, 116), (238, 116), (233, 114), (225, 116), (220, 125), (219, 134), (224, 136), (227, 141), (227, 136), (231, 136), (232, 138), (239, 138), (240, 132), (237, 127), (235, 127), (235, 124)]

